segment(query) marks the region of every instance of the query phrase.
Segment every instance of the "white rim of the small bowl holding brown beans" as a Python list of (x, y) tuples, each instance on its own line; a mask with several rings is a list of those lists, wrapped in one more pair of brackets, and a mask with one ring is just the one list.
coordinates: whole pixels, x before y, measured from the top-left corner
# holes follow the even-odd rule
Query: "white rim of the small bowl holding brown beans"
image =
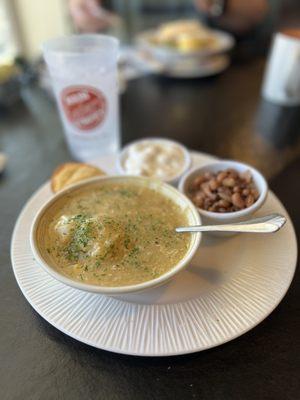
[(240, 161), (236, 161), (236, 160), (227, 160), (227, 159), (220, 159), (218, 161), (215, 162), (208, 162), (207, 164), (204, 164), (200, 167), (195, 167), (192, 168), (191, 170), (187, 171), (186, 174), (184, 174), (182, 176), (182, 178), (179, 181), (178, 184), (178, 189), (181, 193), (185, 194), (187, 197), (187, 193), (185, 191), (185, 185), (188, 181), (188, 179), (195, 174), (197, 171), (204, 171), (204, 170), (209, 170), (210, 167), (212, 166), (216, 166), (216, 165), (220, 165), (220, 170), (225, 169), (225, 168), (231, 168), (231, 167), (243, 167), (244, 169), (249, 169), (251, 171), (254, 183), (257, 185), (257, 181), (258, 179), (261, 181), (261, 186), (262, 189), (259, 193), (259, 197), (256, 200), (255, 203), (253, 203), (250, 207), (248, 208), (244, 208), (243, 210), (240, 211), (232, 211), (232, 212), (228, 212), (228, 213), (217, 213), (217, 212), (213, 212), (213, 211), (206, 211), (203, 210), (202, 208), (199, 208), (197, 206), (195, 206), (198, 210), (198, 212), (203, 215), (204, 217), (207, 218), (211, 218), (211, 219), (215, 219), (215, 220), (232, 220), (235, 218), (240, 218), (249, 214), (252, 214), (254, 211), (258, 210), (263, 203), (266, 200), (267, 194), (268, 194), (268, 184), (266, 179), (264, 178), (264, 176), (261, 174), (261, 172), (259, 172), (256, 168), (252, 167), (249, 164), (246, 164), (244, 162), (240, 162)]

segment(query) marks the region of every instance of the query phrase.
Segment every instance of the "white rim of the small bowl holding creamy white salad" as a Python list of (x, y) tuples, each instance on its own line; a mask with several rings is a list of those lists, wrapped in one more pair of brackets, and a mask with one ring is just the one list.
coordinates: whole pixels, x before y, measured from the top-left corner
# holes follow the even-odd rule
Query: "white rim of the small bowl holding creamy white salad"
[[(165, 142), (165, 143), (169, 143), (169, 144), (172, 143), (172, 144), (175, 144), (176, 146), (178, 146), (183, 152), (184, 166), (183, 166), (182, 170), (177, 175), (174, 175), (172, 178), (161, 179), (161, 181), (172, 184), (172, 183), (178, 181), (190, 169), (190, 166), (192, 164), (192, 158), (191, 158), (190, 152), (187, 149), (187, 147), (185, 147), (183, 144), (181, 144), (180, 142), (177, 142), (176, 140), (173, 140), (173, 139), (168, 139), (168, 138), (159, 137), (159, 136), (158, 137), (149, 136), (149, 137), (144, 137), (144, 138), (129, 142), (122, 148), (122, 150), (118, 154), (117, 160), (116, 160), (117, 171), (120, 174), (130, 176), (129, 174), (126, 173), (125, 169), (123, 168), (123, 165), (122, 165), (123, 158), (124, 158), (126, 152), (128, 151), (129, 147), (131, 147), (134, 144), (142, 143), (142, 142)], [(135, 175), (135, 176), (142, 176), (142, 175)], [(159, 179), (159, 178), (151, 178), (151, 179)]]

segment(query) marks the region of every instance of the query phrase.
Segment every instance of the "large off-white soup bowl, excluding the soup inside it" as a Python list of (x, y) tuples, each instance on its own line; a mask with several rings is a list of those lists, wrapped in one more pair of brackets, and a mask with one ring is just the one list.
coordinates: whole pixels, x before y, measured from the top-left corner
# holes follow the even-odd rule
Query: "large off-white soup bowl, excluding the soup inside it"
[(172, 277), (174, 277), (175, 274), (183, 270), (189, 264), (200, 244), (200, 233), (192, 234), (190, 236), (187, 251), (179, 260), (179, 262), (169, 268), (167, 272), (151, 280), (146, 280), (126, 286), (100, 286), (94, 283), (88, 283), (84, 281), (81, 282), (76, 279), (72, 279), (71, 277), (66, 276), (65, 274), (60, 272), (60, 270), (57, 268), (59, 266), (57, 265), (53, 257), (48, 254), (49, 250), (46, 247), (44, 237), (46, 236), (47, 229), (49, 228), (51, 215), (54, 215), (54, 210), (57, 210), (59, 204), (62, 204), (61, 202), (63, 202), (64, 200), (67, 201), (67, 199), (72, 197), (72, 195), (78, 194), (81, 191), (87, 189), (89, 190), (100, 188), (101, 185), (105, 183), (128, 183), (134, 184), (135, 186), (141, 188), (149, 188), (176, 204), (179, 207), (180, 211), (184, 214), (188, 225), (201, 224), (201, 218), (193, 203), (177, 189), (159, 180), (137, 176), (110, 176), (91, 178), (57, 193), (38, 211), (32, 223), (30, 233), (31, 249), (37, 263), (53, 278), (63, 284), (87, 292), (94, 292), (106, 295), (118, 295), (123, 293), (138, 292), (154, 288), (156, 286), (166, 283)]

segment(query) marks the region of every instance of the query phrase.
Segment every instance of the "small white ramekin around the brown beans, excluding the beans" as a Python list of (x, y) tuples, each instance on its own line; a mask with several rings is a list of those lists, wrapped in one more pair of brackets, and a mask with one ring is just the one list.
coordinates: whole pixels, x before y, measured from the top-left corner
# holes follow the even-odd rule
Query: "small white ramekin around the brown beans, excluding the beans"
[[(203, 174), (204, 172), (218, 172), (218, 171), (223, 171), (227, 168), (233, 168), (238, 172), (244, 172), (246, 170), (250, 170), (252, 177), (253, 177), (253, 182), (259, 191), (259, 197), (256, 200), (252, 206), (245, 208), (240, 211), (235, 211), (235, 212), (229, 212), (229, 213), (217, 213), (217, 212), (212, 212), (212, 211), (206, 211), (201, 208), (197, 208), (199, 211), (199, 214), (201, 215), (201, 219), (203, 224), (208, 225), (208, 224), (225, 224), (225, 223), (231, 223), (231, 222), (239, 222), (239, 221), (245, 221), (248, 219), (252, 214), (254, 214), (261, 206), (264, 204), (267, 193), (268, 193), (268, 184), (263, 177), (263, 175), (257, 171), (257, 169), (251, 167), (250, 165), (238, 162), (238, 161), (232, 161), (232, 160), (220, 160), (214, 163), (209, 163), (207, 165), (204, 165), (202, 167), (196, 167), (192, 169), (191, 171), (187, 172), (180, 180), (178, 188), (179, 190), (184, 193), (185, 195), (188, 195), (188, 188), (194, 178), (196, 178), (198, 175)], [(230, 236), (232, 235), (231, 233), (228, 234), (223, 234), (223, 233), (217, 233), (215, 234), (217, 236)]]

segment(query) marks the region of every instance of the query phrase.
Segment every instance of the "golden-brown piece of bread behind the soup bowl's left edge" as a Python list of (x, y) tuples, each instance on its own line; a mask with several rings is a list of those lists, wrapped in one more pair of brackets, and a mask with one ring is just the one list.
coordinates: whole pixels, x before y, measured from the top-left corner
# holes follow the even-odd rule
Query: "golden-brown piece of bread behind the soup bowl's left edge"
[(67, 186), (94, 176), (106, 175), (100, 168), (84, 163), (65, 163), (58, 166), (51, 176), (51, 189), (54, 193)]

